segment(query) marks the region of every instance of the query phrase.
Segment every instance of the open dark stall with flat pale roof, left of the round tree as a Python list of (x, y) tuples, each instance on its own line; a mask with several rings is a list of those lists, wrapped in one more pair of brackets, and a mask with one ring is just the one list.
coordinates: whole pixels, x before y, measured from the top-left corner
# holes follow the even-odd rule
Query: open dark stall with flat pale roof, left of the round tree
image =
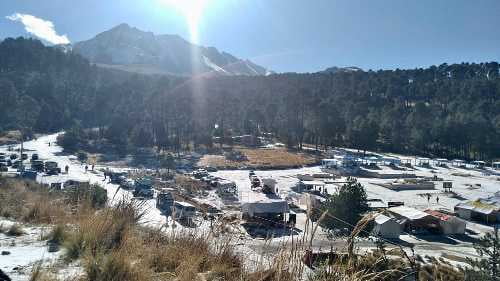
[(284, 221), (285, 214), (290, 213), (290, 207), (282, 199), (265, 199), (248, 202), (241, 205), (244, 218), (260, 218), (273, 221)]

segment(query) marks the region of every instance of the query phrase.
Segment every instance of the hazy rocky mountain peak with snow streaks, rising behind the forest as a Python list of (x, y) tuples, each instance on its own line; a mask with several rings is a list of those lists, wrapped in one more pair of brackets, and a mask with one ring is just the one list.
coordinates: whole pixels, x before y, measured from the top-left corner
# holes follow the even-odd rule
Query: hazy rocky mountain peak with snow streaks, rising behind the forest
[(269, 70), (215, 47), (192, 44), (178, 35), (155, 35), (126, 23), (78, 42), (73, 50), (91, 62), (122, 70), (176, 75), (266, 75)]

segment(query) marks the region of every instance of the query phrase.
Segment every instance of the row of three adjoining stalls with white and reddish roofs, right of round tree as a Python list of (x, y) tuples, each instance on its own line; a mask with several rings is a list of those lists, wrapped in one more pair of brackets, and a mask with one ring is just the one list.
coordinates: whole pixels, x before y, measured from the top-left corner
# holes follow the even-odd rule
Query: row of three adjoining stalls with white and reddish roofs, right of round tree
[(454, 235), (465, 233), (466, 222), (436, 210), (420, 211), (405, 206), (393, 207), (374, 219), (373, 234), (398, 238), (401, 232), (412, 234)]

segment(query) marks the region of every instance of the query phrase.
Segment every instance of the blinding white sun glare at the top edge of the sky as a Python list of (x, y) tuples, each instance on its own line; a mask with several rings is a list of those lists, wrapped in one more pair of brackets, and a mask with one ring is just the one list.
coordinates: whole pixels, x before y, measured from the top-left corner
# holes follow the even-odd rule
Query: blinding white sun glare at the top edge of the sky
[(181, 13), (189, 26), (191, 41), (198, 43), (198, 24), (209, 0), (160, 0)]

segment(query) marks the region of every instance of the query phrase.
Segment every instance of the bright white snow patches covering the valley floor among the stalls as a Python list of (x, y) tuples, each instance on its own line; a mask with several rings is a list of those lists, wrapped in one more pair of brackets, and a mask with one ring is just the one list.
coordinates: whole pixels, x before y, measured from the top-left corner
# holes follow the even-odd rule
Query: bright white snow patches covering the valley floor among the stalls
[[(55, 176), (45, 176), (39, 175), (37, 181), (41, 183), (52, 183), (52, 182), (64, 182), (69, 179), (89, 181), (90, 183), (98, 183), (103, 186), (108, 191), (108, 197), (116, 201), (121, 198), (131, 198), (131, 193), (118, 188), (118, 185), (110, 184), (104, 181), (104, 174), (102, 170), (106, 168), (111, 168), (116, 170), (117, 168), (106, 167), (102, 165), (96, 165), (94, 171), (85, 171), (85, 164), (80, 163), (75, 156), (64, 155), (62, 153), (62, 148), (56, 145), (56, 138), (58, 134), (47, 135), (39, 137), (36, 140), (26, 142), (24, 148), (28, 150), (28, 154), (35, 152), (39, 154), (42, 160), (50, 160), (58, 163), (59, 167), (64, 170), (67, 165), (69, 167), (68, 174), (60, 174)], [(49, 145), (50, 143), (50, 145)], [(18, 147), (18, 146), (17, 146)], [(17, 147), (14, 147), (16, 149)], [(0, 147), (0, 152), (7, 152), (7, 147)], [(122, 168), (126, 169), (126, 168)], [(382, 166), (382, 172), (390, 172), (390, 168)], [(292, 188), (298, 183), (298, 174), (314, 174), (321, 172), (320, 167), (306, 167), (301, 169), (288, 169), (288, 170), (273, 170), (273, 171), (255, 171), (256, 175), (261, 178), (273, 178), (276, 180), (278, 188), (278, 193), (282, 198), (298, 198), (300, 194), (294, 192)], [(477, 197), (483, 197), (492, 195), (494, 192), (500, 190), (500, 178), (499, 175), (485, 175), (482, 171), (474, 169), (459, 169), (459, 168), (433, 168), (426, 169), (417, 167), (414, 171), (408, 171), (410, 173), (415, 173), (417, 176), (432, 177), (434, 175), (439, 178), (443, 178), (446, 181), (453, 182), (453, 191), (463, 197), (465, 200), (475, 199)], [(232, 180), (236, 183), (239, 192), (240, 202), (252, 201), (255, 199), (260, 199), (262, 193), (255, 192), (251, 189), (250, 181), (248, 178), (248, 171), (245, 170), (224, 170), (211, 173), (214, 176)], [(455, 174), (455, 175), (453, 175)], [(470, 174), (470, 176), (458, 176), (457, 174)], [(387, 188), (381, 187), (377, 184), (387, 183), (391, 180), (388, 179), (368, 179), (359, 178), (368, 193), (369, 198), (378, 198), (384, 201), (403, 201), (406, 206), (415, 207), (420, 210), (427, 208), (440, 209), (445, 208), (453, 210), (453, 207), (461, 202), (460, 199), (456, 197), (449, 197), (442, 192), (441, 183), (436, 182), (436, 189), (432, 191), (419, 190), (419, 191), (393, 191)], [(343, 181), (343, 179), (337, 179), (336, 181)], [(478, 184), (480, 186), (478, 186)], [(328, 193), (334, 192), (337, 186), (335, 184), (327, 184), (326, 188)], [(427, 201), (425, 196), (420, 196), (423, 193), (435, 193), (430, 202)], [(436, 202), (436, 198), (439, 196), (439, 204)], [(221, 200), (213, 192), (209, 193), (209, 196), (202, 198), (202, 201), (210, 202), (216, 206), (223, 206)], [(148, 215), (145, 218), (144, 223), (153, 226), (163, 226), (166, 223), (171, 225), (172, 221), (167, 219), (164, 215), (160, 213), (158, 209), (155, 208), (155, 199), (150, 199), (145, 201), (146, 208), (148, 210)], [(297, 228), (301, 231), (298, 235), (304, 233), (304, 227), (306, 222), (306, 215), (299, 213), (297, 215)], [(209, 229), (209, 223), (204, 222), (200, 228), (202, 230)], [(486, 231), (491, 231), (488, 226), (478, 225), (475, 223), (467, 224), (467, 228), (473, 230), (477, 233), (484, 233)], [(168, 231), (172, 231), (173, 228), (168, 228)], [(182, 226), (175, 228), (177, 230), (183, 229)], [(244, 232), (242, 232), (244, 233)], [(297, 237), (295, 237), (296, 239)], [(286, 241), (290, 241), (290, 236), (283, 236), (279, 238), (271, 239), (271, 241), (264, 241), (263, 239), (252, 239), (249, 235), (242, 234), (239, 236), (239, 249), (245, 252), (249, 261), (260, 262), (262, 255), (268, 253), (273, 249), (278, 248)], [(411, 243), (415, 245), (415, 251), (417, 254), (421, 255), (432, 255), (440, 256), (443, 253), (457, 255), (457, 256), (475, 256), (475, 251), (472, 247), (470, 241), (459, 241), (459, 240), (447, 240), (445, 243), (439, 241), (423, 241), (411, 237), (408, 235), (402, 235), (401, 240), (406, 243)], [(313, 241), (313, 247), (316, 249), (330, 249), (330, 246), (343, 247), (343, 243), (340, 241), (330, 241), (327, 235), (321, 229), (315, 236)], [(374, 245), (371, 242), (365, 241), (360, 242), (359, 246), (361, 248), (370, 249)], [(33, 258), (40, 259), (45, 256), (43, 252), (33, 251)], [(33, 262), (36, 259), (29, 259), (29, 262)], [(3, 260), (3, 257), (0, 257)], [(28, 260), (28, 259), (26, 259)], [(7, 265), (12, 266), (12, 264)]]

